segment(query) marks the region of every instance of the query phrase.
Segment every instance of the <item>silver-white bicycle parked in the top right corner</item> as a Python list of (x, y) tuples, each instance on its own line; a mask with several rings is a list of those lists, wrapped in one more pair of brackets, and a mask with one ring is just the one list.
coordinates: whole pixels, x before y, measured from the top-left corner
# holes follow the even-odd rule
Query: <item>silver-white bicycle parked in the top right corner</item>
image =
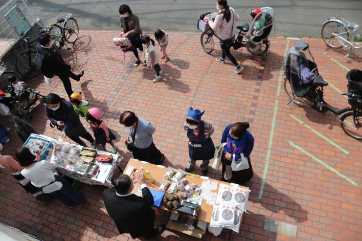
[(347, 47), (349, 54), (356, 48), (362, 48), (362, 42), (356, 42), (361, 36), (356, 34), (360, 27), (356, 22), (349, 22), (342, 17), (332, 16), (322, 27), (322, 38), (325, 44), (331, 48)]

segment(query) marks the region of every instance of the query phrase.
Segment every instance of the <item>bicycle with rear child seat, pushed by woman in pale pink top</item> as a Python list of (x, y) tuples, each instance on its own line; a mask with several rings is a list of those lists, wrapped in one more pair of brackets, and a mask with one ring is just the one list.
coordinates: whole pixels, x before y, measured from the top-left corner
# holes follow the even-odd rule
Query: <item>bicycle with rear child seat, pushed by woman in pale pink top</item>
[[(268, 36), (271, 33), (274, 23), (274, 11), (271, 7), (263, 7), (261, 10), (262, 11), (255, 16), (255, 20), (258, 19), (259, 16), (265, 19), (264, 27), (257, 31), (260, 34), (253, 34), (255, 20), (251, 23), (250, 30), (248, 23), (245, 23), (242, 26), (237, 26), (236, 28), (240, 31), (238, 32), (235, 41), (233, 41), (233, 48), (235, 50), (241, 47), (246, 47), (249, 53), (254, 55), (262, 55), (269, 50), (270, 41), (268, 40)], [(209, 24), (204, 22), (205, 16), (210, 14), (210, 12), (201, 14), (197, 24), (197, 28), (203, 31), (200, 36), (201, 46), (208, 54), (214, 50), (213, 36), (215, 36), (218, 40), (221, 40), (215, 31), (211, 29)]]

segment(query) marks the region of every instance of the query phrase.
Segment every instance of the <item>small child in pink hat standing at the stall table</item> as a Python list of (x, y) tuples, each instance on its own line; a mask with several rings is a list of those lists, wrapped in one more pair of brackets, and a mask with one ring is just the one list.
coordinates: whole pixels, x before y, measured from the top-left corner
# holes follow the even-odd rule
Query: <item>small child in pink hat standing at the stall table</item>
[(91, 108), (88, 110), (87, 119), (91, 124), (91, 129), (94, 133), (95, 144), (102, 145), (103, 151), (106, 151), (106, 143), (109, 143), (112, 146), (111, 152), (115, 154), (117, 152), (117, 146), (114, 144), (113, 140), (115, 140), (116, 137), (101, 118), (102, 113), (98, 108)]

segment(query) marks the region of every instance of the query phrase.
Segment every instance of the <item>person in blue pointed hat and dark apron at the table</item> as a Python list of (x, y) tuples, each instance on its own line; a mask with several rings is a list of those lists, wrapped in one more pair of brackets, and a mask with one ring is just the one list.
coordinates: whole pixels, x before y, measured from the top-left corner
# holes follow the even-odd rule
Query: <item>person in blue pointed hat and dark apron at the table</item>
[(214, 157), (215, 146), (210, 137), (214, 133), (214, 128), (211, 124), (201, 120), (204, 112), (193, 110), (192, 107), (187, 111), (186, 122), (183, 124), (189, 139), (189, 158), (185, 171), (190, 172), (194, 169), (196, 161), (203, 160), (200, 170), (203, 172), (203, 175), (207, 175), (207, 166), (210, 163), (210, 159)]

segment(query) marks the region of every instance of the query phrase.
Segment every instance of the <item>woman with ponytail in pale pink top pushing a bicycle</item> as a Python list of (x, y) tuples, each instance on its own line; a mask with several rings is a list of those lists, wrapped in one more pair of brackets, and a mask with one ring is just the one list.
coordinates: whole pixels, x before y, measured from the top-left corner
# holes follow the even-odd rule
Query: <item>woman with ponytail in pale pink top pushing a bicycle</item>
[(240, 17), (235, 12), (235, 10), (227, 5), (226, 0), (217, 0), (216, 8), (219, 10), (218, 14), (215, 17), (215, 20), (209, 20), (209, 26), (216, 31), (220, 30), (219, 36), (221, 38), (220, 46), (223, 50), (223, 55), (221, 58), (216, 58), (216, 61), (225, 64), (225, 57), (229, 58), (229, 60), (236, 66), (235, 73), (238, 74), (243, 70), (243, 66), (239, 65), (235, 60), (234, 56), (230, 53), (230, 48), (232, 42), (234, 40), (233, 34), (233, 26), (235, 26), (234, 22), (239, 21)]

